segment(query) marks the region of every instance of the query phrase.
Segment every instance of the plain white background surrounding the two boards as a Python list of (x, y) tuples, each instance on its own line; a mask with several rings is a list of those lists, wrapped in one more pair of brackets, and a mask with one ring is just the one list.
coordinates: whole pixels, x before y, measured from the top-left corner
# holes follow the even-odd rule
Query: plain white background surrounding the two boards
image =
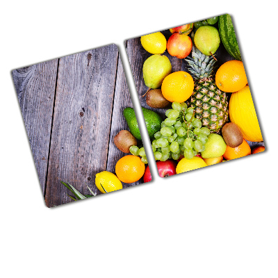
[[(1, 277), (277, 278), (277, 7), (271, 3), (2, 4)], [(169, 179), (154, 173), (152, 183), (47, 208), (11, 70), (112, 42), (126, 62), (125, 39), (224, 13), (234, 19), (266, 151)], [(129, 85), (136, 96), (132, 79)]]

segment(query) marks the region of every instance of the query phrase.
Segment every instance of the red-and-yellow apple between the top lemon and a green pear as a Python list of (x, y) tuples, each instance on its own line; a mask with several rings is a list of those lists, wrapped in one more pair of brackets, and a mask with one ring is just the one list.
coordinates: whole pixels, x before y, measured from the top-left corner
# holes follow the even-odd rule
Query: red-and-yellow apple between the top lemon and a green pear
[(171, 56), (179, 59), (186, 58), (192, 49), (193, 43), (185, 34), (174, 33), (167, 41), (167, 51)]

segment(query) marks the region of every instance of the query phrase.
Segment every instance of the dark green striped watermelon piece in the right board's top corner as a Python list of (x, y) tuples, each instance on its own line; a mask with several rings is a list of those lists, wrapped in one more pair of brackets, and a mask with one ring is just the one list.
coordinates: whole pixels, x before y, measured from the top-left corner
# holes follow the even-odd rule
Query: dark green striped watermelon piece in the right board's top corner
[(236, 40), (236, 33), (234, 31), (233, 22), (231, 22), (230, 15), (220, 15), (218, 20), (218, 28), (220, 38), (228, 53), (236, 60), (241, 60), (238, 41)]

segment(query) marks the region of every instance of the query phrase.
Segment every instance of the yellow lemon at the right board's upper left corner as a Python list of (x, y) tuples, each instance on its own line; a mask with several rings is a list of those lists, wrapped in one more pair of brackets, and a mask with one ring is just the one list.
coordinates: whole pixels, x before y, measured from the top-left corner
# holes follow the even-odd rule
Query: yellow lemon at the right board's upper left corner
[(163, 33), (156, 32), (141, 37), (142, 47), (151, 54), (163, 54), (166, 50), (167, 40)]

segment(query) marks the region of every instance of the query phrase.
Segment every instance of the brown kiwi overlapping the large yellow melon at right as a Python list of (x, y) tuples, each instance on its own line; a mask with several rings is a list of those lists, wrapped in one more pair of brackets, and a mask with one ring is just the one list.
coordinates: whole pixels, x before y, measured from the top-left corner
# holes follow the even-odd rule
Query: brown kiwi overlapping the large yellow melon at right
[(229, 147), (235, 148), (243, 143), (243, 133), (234, 122), (229, 122), (222, 127), (222, 136)]

